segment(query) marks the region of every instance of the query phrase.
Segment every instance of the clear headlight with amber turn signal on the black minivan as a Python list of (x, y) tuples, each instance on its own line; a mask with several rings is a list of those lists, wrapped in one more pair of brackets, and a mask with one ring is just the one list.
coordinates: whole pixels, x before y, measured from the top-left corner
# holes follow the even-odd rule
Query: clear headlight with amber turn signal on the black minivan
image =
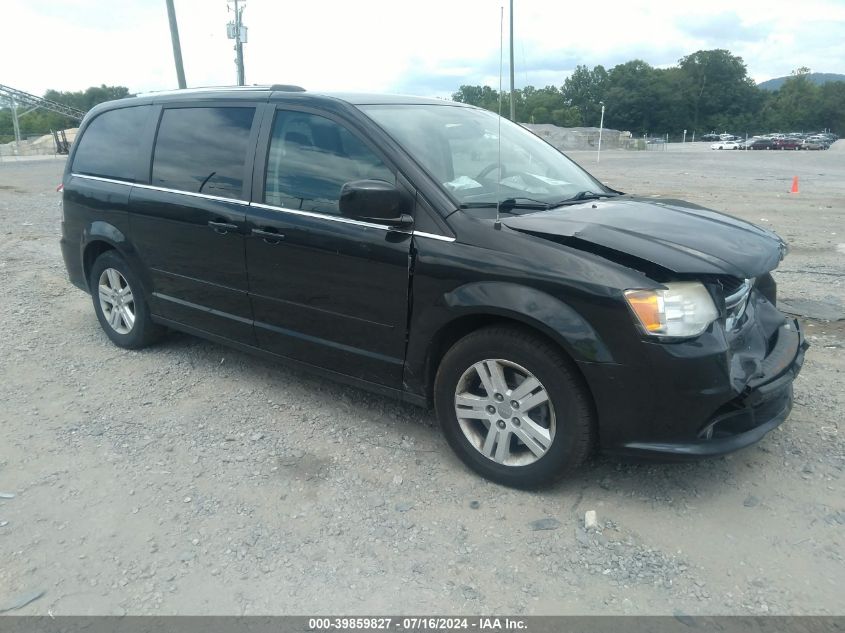
[(676, 281), (660, 290), (626, 290), (625, 299), (645, 331), (655, 336), (697, 336), (719, 312), (697, 281)]

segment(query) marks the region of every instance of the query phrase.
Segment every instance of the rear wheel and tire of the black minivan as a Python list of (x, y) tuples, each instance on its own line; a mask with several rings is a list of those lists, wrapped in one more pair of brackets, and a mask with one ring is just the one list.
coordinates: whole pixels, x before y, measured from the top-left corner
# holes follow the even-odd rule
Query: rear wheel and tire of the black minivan
[(97, 258), (88, 287), (97, 320), (112, 343), (139, 349), (160, 336), (162, 328), (150, 320), (138, 276), (117, 252), (106, 251)]

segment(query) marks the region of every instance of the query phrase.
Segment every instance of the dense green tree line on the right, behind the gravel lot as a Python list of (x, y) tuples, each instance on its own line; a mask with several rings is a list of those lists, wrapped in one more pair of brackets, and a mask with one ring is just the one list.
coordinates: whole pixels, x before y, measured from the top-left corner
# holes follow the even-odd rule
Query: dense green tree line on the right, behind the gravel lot
[[(845, 82), (816, 85), (809, 68), (799, 68), (780, 89), (758, 88), (741, 57), (723, 49), (698, 51), (676, 66), (655, 68), (635, 59), (610, 70), (578, 66), (563, 85), (514, 91), (520, 123), (598, 127), (601, 102), (604, 126), (636, 135), (680, 137), (687, 130), (760, 134), (809, 132), (826, 128), (845, 136)], [(461, 86), (455, 101), (499, 110), (499, 93), (489, 86)], [(510, 92), (502, 94), (502, 113), (510, 111)]]

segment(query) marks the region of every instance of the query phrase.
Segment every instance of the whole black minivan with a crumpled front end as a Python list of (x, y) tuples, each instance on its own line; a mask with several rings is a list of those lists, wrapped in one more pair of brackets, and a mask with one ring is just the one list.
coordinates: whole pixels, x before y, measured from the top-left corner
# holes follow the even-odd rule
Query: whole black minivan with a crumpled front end
[(609, 189), (519, 125), (415, 97), (177, 91), (85, 118), (64, 260), (116, 345), (172, 328), (423, 406), (534, 487), (594, 448), (707, 456), (792, 406), (774, 233)]

